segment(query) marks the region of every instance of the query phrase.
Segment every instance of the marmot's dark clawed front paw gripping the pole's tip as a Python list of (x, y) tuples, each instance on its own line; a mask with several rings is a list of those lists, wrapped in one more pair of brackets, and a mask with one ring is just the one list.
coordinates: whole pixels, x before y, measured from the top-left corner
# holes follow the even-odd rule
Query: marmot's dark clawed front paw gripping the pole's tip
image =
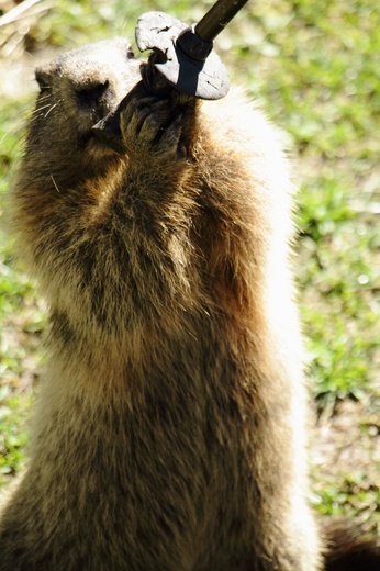
[(131, 159), (178, 160), (186, 158), (182, 136), (183, 113), (169, 100), (156, 97), (134, 99), (121, 113), (123, 144)]

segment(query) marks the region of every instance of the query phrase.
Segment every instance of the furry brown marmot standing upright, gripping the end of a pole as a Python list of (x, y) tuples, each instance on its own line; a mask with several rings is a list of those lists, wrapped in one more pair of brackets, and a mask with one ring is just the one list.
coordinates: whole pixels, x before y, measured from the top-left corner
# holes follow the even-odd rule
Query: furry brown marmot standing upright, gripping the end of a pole
[[(242, 93), (142, 65), (116, 38), (36, 71), (14, 208), (49, 359), (1, 569), (321, 570), (287, 161)], [(91, 127), (132, 89), (116, 153)]]

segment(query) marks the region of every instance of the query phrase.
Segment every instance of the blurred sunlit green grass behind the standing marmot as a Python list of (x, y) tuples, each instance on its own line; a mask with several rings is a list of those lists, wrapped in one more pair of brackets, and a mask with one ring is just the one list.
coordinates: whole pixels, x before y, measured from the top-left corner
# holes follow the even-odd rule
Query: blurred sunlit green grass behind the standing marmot
[[(31, 25), (24, 47), (70, 48), (116, 34), (131, 37), (142, 12), (156, 9), (191, 22), (211, 4), (164, 0), (128, 8), (116, 0), (62, 0), (59, 9)], [(379, 403), (379, 26), (377, 0), (268, 0), (250, 2), (216, 41), (233, 81), (243, 82), (287, 133), (300, 187), (299, 299), (321, 412), (357, 399), (371, 414)], [(0, 211), (20, 155), (26, 102), (18, 96), (1, 107)], [(23, 458), (44, 312), (33, 284), (15, 271), (3, 231), (0, 239), (1, 479)], [(314, 503), (322, 513), (340, 513), (347, 505), (360, 510), (366, 501), (379, 505), (379, 482), (367, 485), (356, 474), (342, 477), (338, 485), (326, 475), (325, 486), (316, 486)]]

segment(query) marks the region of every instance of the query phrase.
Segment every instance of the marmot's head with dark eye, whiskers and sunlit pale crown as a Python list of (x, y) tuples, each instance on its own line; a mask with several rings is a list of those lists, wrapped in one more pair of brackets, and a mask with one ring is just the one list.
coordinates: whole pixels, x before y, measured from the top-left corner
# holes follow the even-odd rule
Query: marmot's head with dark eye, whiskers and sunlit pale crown
[(65, 186), (99, 173), (116, 158), (91, 127), (141, 79), (139, 66), (130, 43), (118, 37), (72, 49), (37, 68), (40, 94), (26, 154), (41, 177)]

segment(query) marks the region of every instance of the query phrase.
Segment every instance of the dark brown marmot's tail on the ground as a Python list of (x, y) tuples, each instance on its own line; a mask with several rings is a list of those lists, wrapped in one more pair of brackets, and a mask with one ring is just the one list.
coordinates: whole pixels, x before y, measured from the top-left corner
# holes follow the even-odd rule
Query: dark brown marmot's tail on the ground
[(360, 527), (329, 524), (325, 571), (380, 571), (380, 538), (371, 538)]

